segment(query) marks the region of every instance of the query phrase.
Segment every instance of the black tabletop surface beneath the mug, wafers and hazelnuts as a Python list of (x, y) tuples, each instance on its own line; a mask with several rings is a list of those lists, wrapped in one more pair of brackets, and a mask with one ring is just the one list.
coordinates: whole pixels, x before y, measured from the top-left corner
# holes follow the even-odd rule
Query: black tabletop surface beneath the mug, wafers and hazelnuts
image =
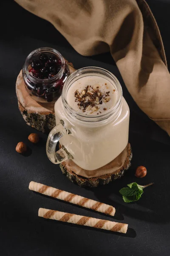
[[(148, 0), (148, 3), (158, 21), (170, 61), (167, 26), (170, 1)], [(83, 57), (47, 21), (12, 1), (1, 1), (0, 4), (3, 18), (0, 23), (0, 255), (169, 256), (170, 138), (136, 106), (109, 54)], [(103, 67), (121, 81), (131, 111), (129, 141), (133, 148), (132, 167), (122, 180), (96, 189), (80, 188), (46, 157), (46, 135), (39, 133), (41, 141), (38, 145), (27, 140), (35, 130), (26, 125), (17, 108), (15, 81), (28, 53), (44, 46), (58, 49), (76, 68)], [(29, 146), (27, 157), (15, 151), (19, 141)], [(141, 180), (134, 176), (139, 165), (148, 170)], [(107, 217), (31, 192), (28, 190), (31, 180), (111, 204), (116, 207), (117, 216)], [(145, 189), (140, 201), (126, 204), (119, 189), (133, 181), (155, 184)], [(126, 235), (122, 235), (45, 220), (37, 216), (39, 207), (116, 219), (129, 224), (130, 228)]]

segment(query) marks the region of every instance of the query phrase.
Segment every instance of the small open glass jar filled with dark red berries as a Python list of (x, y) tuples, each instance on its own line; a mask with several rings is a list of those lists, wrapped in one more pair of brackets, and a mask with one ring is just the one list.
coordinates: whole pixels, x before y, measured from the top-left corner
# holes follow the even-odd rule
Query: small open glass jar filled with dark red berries
[(26, 90), (40, 103), (55, 102), (68, 76), (68, 62), (56, 49), (48, 47), (32, 51), (23, 66)]

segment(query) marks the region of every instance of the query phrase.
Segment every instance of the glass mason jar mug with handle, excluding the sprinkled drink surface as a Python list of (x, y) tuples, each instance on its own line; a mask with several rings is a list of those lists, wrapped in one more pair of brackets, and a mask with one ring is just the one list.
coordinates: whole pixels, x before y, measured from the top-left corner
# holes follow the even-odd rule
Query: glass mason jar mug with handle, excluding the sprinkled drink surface
[[(109, 81), (117, 98), (115, 104), (99, 115), (75, 111), (68, 104), (68, 90), (78, 79), (98, 76)], [(129, 131), (129, 107), (122, 96), (118, 79), (99, 67), (85, 67), (65, 81), (62, 96), (55, 103), (56, 124), (48, 135), (46, 152), (52, 163), (72, 159), (85, 170), (95, 170), (114, 160), (126, 147)], [(59, 141), (61, 148), (56, 152)]]

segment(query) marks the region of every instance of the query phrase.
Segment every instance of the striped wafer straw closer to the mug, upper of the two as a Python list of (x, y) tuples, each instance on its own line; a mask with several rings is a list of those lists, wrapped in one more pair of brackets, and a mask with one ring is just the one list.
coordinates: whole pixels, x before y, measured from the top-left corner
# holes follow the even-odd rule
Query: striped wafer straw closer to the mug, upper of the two
[(75, 195), (64, 190), (55, 189), (51, 186), (46, 186), (41, 183), (37, 183), (31, 181), (29, 183), (29, 189), (39, 192), (43, 195), (48, 195), (53, 198), (57, 198), (66, 202), (70, 202), (71, 204), (77, 204), (79, 206), (95, 210), (97, 212), (102, 212), (111, 216), (115, 214), (115, 208), (108, 204), (99, 203), (92, 199), (84, 198), (80, 195)]

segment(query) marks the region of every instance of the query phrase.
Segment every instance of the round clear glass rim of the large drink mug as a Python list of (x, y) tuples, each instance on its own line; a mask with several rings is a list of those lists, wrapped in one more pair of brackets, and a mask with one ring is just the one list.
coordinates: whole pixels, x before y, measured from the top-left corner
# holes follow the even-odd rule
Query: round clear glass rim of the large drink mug
[[(68, 104), (68, 101), (66, 99), (68, 87), (71, 86), (73, 80), (75, 78), (77, 78), (76, 80), (78, 80), (79, 76), (81, 75), (91, 76), (92, 73), (93, 73), (93, 76), (97, 76), (97, 73), (98, 74), (100, 73), (101, 75), (103, 74), (104, 76), (107, 76), (109, 79), (111, 79), (113, 85), (115, 85), (115, 89), (117, 92), (117, 100), (113, 105), (113, 107), (100, 115), (87, 115), (83, 113), (78, 113)], [(94, 75), (94, 73), (96, 74)], [(123, 98), (123, 93), (122, 93), (122, 87), (119, 80), (116, 78), (116, 76), (113, 75), (113, 73), (100, 67), (83, 67), (74, 71), (74, 73), (72, 73), (67, 78), (62, 88), (62, 102), (67, 113), (70, 114), (71, 116), (74, 116), (76, 119), (79, 119), (85, 122), (99, 122), (99, 121), (108, 119), (110, 116), (113, 116), (113, 115), (117, 116), (119, 110), (122, 108), (122, 98)]]

